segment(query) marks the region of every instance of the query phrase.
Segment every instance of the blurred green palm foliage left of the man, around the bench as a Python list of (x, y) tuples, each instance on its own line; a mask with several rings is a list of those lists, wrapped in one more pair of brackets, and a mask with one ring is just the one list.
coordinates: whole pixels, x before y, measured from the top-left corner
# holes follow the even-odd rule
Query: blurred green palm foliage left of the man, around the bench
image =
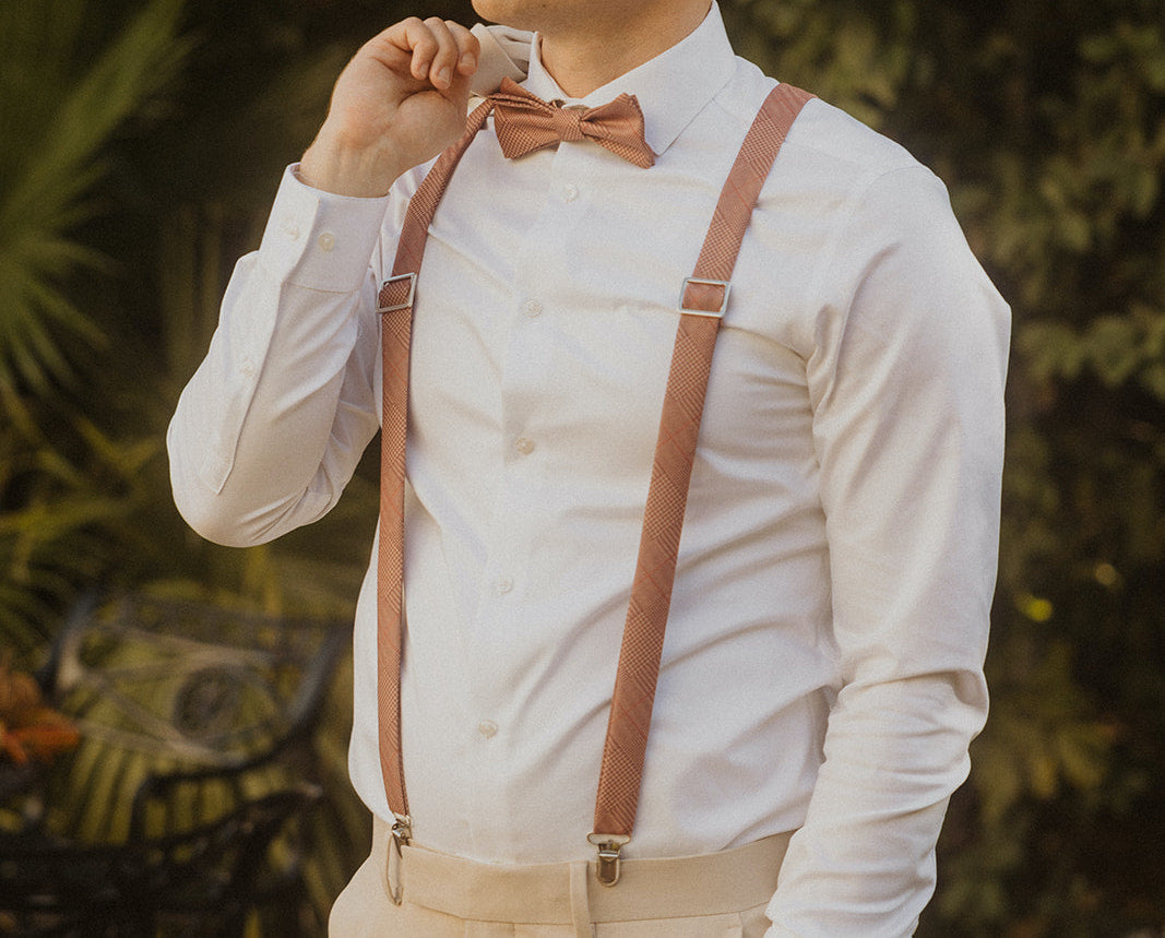
[[(351, 614), (374, 484), (277, 545), (218, 548), (174, 508), (164, 430), (355, 42), (318, 6), (0, 5), (0, 646), (26, 667), (94, 588)], [(346, 669), (322, 720), (329, 798), (305, 821), (317, 852), (271, 933), (322, 930), (367, 853)], [(123, 834), (142, 760), (87, 740), (70, 764), (47, 820)]]

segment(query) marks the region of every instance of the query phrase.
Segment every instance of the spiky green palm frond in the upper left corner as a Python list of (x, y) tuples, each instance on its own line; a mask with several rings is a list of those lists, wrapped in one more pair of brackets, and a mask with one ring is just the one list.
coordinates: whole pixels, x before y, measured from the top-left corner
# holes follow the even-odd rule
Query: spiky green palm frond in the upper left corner
[(99, 259), (72, 234), (97, 211), (104, 148), (190, 48), (177, 36), (183, 0), (154, 0), (78, 73), (89, 6), (0, 5), (0, 101), (10, 125), (0, 135), (0, 385), (8, 388), (45, 390), (70, 372), (65, 337), (100, 334), (65, 291)]

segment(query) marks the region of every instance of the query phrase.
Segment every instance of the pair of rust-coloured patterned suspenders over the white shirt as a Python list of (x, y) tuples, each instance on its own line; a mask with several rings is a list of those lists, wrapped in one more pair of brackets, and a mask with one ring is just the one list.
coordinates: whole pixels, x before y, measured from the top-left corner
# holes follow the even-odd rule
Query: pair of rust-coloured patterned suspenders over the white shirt
[[(651, 468), (643, 534), (619, 655), (607, 739), (599, 773), (594, 830), (600, 882), (619, 880), (620, 851), (630, 840), (638, 804), (651, 707), (676, 574), (680, 530), (720, 320), (732, 271), (761, 188), (800, 108), (813, 96), (777, 85), (761, 106), (716, 204), (692, 276), (680, 288), (679, 326)], [(461, 155), (486, 122), (493, 101), (468, 118), (463, 137), (437, 160), (409, 203), (391, 276), (379, 297), (382, 313), (380, 553), (377, 559), (377, 706), (380, 761), (396, 861), (412, 837), (401, 754), (401, 646), (404, 570), (404, 446), (409, 341), (417, 274), (429, 225)], [(391, 858), (390, 858), (391, 861)], [(394, 902), (401, 894), (394, 884)]]

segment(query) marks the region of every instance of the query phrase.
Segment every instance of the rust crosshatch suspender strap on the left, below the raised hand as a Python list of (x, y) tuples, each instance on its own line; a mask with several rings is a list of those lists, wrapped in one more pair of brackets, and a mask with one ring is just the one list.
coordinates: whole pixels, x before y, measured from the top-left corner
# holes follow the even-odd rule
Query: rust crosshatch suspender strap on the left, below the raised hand
[(376, 704), (380, 767), (388, 806), (397, 818), (409, 814), (401, 754), (401, 646), (404, 602), (404, 440), (409, 411), (409, 344), (416, 275), (425, 253), (429, 225), (461, 155), (493, 108), (479, 105), (465, 134), (445, 150), (417, 188), (401, 230), (393, 276), (379, 296), (383, 354), (380, 447), (380, 548), (376, 565)]

